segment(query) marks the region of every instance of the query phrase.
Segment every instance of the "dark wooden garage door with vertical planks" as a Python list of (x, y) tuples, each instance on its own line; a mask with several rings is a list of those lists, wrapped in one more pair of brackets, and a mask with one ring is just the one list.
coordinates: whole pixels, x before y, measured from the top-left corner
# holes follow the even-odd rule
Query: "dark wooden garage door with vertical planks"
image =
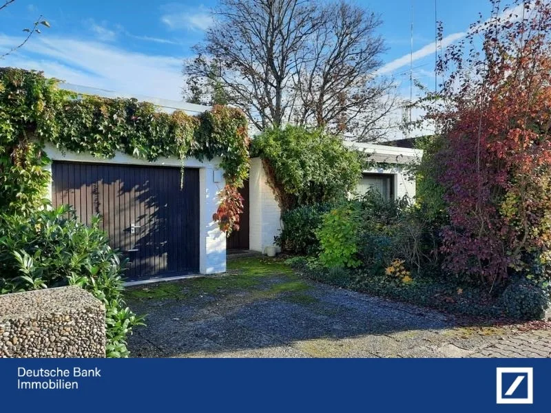
[(127, 279), (197, 272), (199, 171), (54, 162), (52, 202), (71, 204), (81, 222), (96, 214), (110, 244), (129, 259)]

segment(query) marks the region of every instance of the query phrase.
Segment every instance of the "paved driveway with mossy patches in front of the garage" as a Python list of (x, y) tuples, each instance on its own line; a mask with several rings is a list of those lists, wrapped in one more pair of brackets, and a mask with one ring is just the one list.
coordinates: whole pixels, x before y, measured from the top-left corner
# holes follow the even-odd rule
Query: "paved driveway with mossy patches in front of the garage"
[(461, 325), (289, 273), (134, 288), (134, 357), (551, 357), (551, 330)]

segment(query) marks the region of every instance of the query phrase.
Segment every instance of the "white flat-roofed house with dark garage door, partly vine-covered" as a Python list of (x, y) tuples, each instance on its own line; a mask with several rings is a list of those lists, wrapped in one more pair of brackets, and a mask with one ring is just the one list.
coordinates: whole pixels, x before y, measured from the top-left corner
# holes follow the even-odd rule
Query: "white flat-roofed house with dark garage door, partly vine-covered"
[[(62, 83), (60, 87), (107, 98), (136, 97), (165, 112), (180, 109), (196, 115), (210, 109), (77, 85)], [(366, 169), (358, 182), (358, 193), (377, 189), (389, 199), (415, 196), (415, 181), (408, 179), (404, 167), (419, 159), (422, 151), (355, 142), (346, 145), (369, 153), (373, 160), (373, 167)], [(100, 226), (111, 246), (129, 261), (129, 281), (223, 273), (227, 250), (264, 253), (280, 233), (281, 209), (260, 158), (251, 159), (249, 180), (241, 190), (245, 211), (240, 231), (233, 231), (227, 238), (212, 219), (218, 208), (218, 193), (225, 186), (220, 158), (187, 158), (180, 187), (181, 161), (176, 158), (148, 162), (116, 153), (112, 159), (103, 159), (65, 153), (54, 145), (47, 145), (45, 151), (52, 160), (52, 204), (71, 204), (86, 224), (101, 214)]]

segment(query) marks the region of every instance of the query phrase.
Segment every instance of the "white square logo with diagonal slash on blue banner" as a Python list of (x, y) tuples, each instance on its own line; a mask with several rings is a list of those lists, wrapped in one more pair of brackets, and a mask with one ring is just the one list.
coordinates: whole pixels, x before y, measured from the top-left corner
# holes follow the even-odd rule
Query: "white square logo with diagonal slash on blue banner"
[[(532, 367), (498, 367), (496, 374), (496, 403), (534, 403), (534, 369)], [(510, 379), (513, 377), (511, 382)]]

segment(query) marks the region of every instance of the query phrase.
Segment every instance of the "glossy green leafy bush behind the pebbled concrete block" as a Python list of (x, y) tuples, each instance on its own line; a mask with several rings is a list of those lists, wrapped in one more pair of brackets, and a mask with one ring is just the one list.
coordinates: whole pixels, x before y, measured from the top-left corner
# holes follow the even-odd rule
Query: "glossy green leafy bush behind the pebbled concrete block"
[(125, 306), (123, 264), (98, 220), (85, 226), (67, 207), (35, 211), (27, 218), (0, 215), (0, 293), (85, 288), (105, 304), (107, 357), (127, 357), (126, 336), (142, 319)]

